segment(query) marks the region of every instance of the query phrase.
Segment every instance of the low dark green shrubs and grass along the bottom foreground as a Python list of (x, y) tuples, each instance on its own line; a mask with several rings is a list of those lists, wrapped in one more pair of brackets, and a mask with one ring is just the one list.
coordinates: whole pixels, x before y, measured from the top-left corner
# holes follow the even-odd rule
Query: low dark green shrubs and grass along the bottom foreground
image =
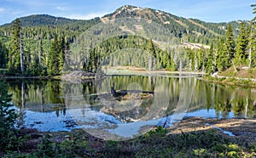
[(217, 130), (168, 135), (158, 127), (139, 138), (103, 141), (70, 133), (62, 142), (46, 134), (38, 148), (9, 151), (5, 157), (255, 157), (256, 144), (226, 138)]

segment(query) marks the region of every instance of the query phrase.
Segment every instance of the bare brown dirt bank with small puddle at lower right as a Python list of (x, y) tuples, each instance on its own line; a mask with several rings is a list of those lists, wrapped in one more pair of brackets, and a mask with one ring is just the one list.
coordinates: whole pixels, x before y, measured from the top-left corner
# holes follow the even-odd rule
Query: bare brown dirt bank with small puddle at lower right
[(206, 131), (218, 129), (227, 137), (239, 138), (247, 143), (256, 143), (256, 120), (253, 119), (202, 119), (200, 117), (188, 117), (170, 127), (169, 134), (189, 133), (193, 131)]

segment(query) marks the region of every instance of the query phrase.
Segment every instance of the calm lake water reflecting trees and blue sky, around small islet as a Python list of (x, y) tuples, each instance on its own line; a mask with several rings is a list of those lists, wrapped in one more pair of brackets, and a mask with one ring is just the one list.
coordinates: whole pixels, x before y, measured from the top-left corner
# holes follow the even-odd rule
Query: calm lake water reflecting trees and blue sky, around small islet
[[(108, 76), (90, 82), (9, 79), (20, 124), (39, 131), (83, 128), (101, 138), (132, 138), (155, 125), (172, 126), (186, 116), (255, 118), (256, 91), (224, 86), (196, 76)], [(118, 90), (142, 90), (142, 99), (104, 98)], [(140, 96), (141, 95), (141, 96)]]

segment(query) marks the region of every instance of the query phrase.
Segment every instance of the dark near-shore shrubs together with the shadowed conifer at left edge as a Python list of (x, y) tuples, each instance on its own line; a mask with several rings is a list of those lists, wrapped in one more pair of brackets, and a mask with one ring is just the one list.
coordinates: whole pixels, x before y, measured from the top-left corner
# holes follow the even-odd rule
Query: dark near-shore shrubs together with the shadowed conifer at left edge
[[(10, 109), (6, 83), (0, 83), (1, 157), (255, 157), (256, 144), (217, 129), (170, 133), (155, 127), (138, 138), (112, 141), (94, 138), (82, 129), (40, 133), (17, 128), (18, 115)], [(190, 123), (191, 124), (191, 123)], [(252, 125), (253, 126), (253, 125)], [(253, 128), (252, 128), (253, 129)]]

